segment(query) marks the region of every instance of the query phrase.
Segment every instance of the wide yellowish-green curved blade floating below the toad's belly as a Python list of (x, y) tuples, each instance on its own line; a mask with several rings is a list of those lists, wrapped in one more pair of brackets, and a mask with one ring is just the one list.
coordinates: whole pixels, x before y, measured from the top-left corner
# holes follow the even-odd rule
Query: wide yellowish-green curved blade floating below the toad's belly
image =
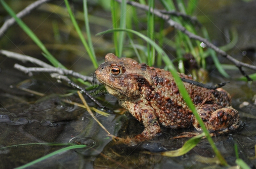
[(196, 146), (196, 144), (198, 144), (200, 142), (201, 138), (204, 136), (205, 136), (205, 134), (202, 133), (198, 136), (192, 137), (188, 141), (186, 141), (181, 148), (179, 148), (177, 150), (162, 152), (161, 155), (168, 156), (168, 157), (182, 156), (182, 155), (186, 154), (188, 151), (192, 150)]

